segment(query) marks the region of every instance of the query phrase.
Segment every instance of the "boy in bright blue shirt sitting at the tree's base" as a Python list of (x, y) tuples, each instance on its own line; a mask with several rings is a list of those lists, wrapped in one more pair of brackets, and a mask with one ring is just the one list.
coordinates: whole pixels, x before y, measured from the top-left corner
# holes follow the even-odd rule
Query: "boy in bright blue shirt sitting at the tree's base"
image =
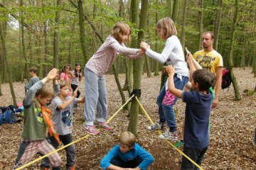
[(118, 137), (118, 142), (119, 144), (102, 158), (100, 162), (102, 169), (145, 170), (154, 162), (154, 157), (136, 143), (136, 137), (132, 132), (122, 132)]

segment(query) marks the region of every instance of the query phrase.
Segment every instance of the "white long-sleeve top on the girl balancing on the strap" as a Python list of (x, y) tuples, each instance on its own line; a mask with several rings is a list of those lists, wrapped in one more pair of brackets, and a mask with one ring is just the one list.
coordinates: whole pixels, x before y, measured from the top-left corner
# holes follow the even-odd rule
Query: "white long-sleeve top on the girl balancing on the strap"
[[(176, 35), (172, 35), (167, 38), (164, 50), (159, 54), (153, 50), (147, 49), (146, 55), (154, 60), (158, 60), (161, 63), (166, 62), (175, 66), (175, 73), (177, 77), (181, 79), (181, 76), (188, 77), (189, 70), (188, 65), (185, 61), (183, 49), (180, 40)], [(182, 80), (182, 79), (181, 79)]]

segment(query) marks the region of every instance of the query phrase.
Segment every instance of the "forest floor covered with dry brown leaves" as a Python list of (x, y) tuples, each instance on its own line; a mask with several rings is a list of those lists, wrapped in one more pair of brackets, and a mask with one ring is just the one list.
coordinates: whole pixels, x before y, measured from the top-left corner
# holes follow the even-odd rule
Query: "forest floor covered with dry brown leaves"
[[(241, 101), (235, 101), (233, 86), (230, 89), (221, 90), (218, 108), (213, 109), (210, 115), (210, 146), (206, 152), (201, 166), (203, 169), (255, 169), (256, 146), (253, 145), (253, 137), (256, 125), (256, 94), (248, 96), (246, 91), (253, 91), (256, 78), (251, 74), (252, 68), (235, 69), (235, 77), (240, 87)], [(119, 80), (124, 84), (125, 75), (119, 74)], [(122, 101), (117, 90), (113, 75), (106, 76), (108, 91), (109, 117), (121, 106)], [(159, 93), (160, 76), (142, 77), (142, 105), (149, 113), (152, 120), (158, 120), (156, 96)], [(83, 82), (80, 83), (81, 96), (84, 96)], [(0, 97), (0, 106), (8, 106), (12, 102), (9, 84), (1, 86), (3, 96)], [(14, 83), (14, 91), (17, 101), (23, 100), (24, 89), (20, 82)], [(127, 96), (127, 92), (124, 94)], [(128, 98), (128, 96), (127, 96)], [(179, 99), (174, 106), (178, 134), (184, 116), (184, 103)], [(74, 109), (73, 140), (86, 135), (80, 126), (83, 122), (83, 106)], [(129, 118), (128, 111), (121, 111), (111, 121), (112, 132), (100, 131), (100, 135), (89, 136), (75, 144), (77, 169), (100, 169), (100, 159), (117, 144), (117, 135), (127, 130)], [(149, 132), (146, 127), (150, 125), (145, 115), (139, 115), (138, 142), (148, 150), (155, 158), (149, 169), (180, 169), (181, 154), (172, 149), (164, 140), (159, 139), (157, 132)], [(0, 169), (11, 169), (21, 142), (23, 123), (0, 126)], [(182, 150), (182, 148), (181, 148)], [(60, 151), (65, 169), (65, 151)], [(40, 169), (40, 163), (35, 163), (28, 169)]]

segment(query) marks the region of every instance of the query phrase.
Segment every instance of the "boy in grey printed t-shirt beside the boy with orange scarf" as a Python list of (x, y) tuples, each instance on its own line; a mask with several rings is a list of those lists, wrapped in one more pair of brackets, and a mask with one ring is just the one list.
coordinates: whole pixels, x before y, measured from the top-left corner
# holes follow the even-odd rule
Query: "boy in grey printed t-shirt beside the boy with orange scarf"
[[(75, 89), (73, 96), (70, 96), (72, 91), (69, 90), (68, 82), (64, 80), (59, 81), (60, 84), (60, 93), (58, 96), (53, 98), (53, 123), (55, 126), (56, 132), (60, 137), (60, 142), (63, 142), (63, 145), (68, 145), (73, 142), (72, 131), (73, 131), (73, 107), (76, 103), (84, 103), (85, 97), (76, 98), (78, 95), (78, 89)], [(48, 137), (50, 144), (58, 148), (60, 145), (54, 137)], [(70, 145), (65, 148), (67, 155), (67, 170), (75, 169), (75, 145)], [(48, 159), (44, 159), (42, 166), (49, 167)]]

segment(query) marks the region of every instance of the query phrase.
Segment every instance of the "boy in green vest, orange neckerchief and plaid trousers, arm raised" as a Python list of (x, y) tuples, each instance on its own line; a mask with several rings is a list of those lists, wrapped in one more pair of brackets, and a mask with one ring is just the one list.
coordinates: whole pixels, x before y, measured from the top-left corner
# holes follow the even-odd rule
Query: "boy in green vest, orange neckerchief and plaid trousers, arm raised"
[[(50, 120), (50, 112), (45, 106), (53, 98), (54, 92), (60, 91), (57, 77), (58, 70), (50, 70), (44, 79), (31, 86), (23, 100), (22, 142), (18, 149), (14, 169), (28, 163), (36, 153), (48, 154), (55, 150), (46, 140), (46, 129), (48, 128), (48, 132), (56, 140), (58, 140), (58, 133), (54, 130), (53, 122)], [(50, 80), (53, 80), (53, 87), (46, 84)], [(53, 169), (60, 169), (61, 157), (57, 152), (48, 156), (48, 159), (53, 165)]]

